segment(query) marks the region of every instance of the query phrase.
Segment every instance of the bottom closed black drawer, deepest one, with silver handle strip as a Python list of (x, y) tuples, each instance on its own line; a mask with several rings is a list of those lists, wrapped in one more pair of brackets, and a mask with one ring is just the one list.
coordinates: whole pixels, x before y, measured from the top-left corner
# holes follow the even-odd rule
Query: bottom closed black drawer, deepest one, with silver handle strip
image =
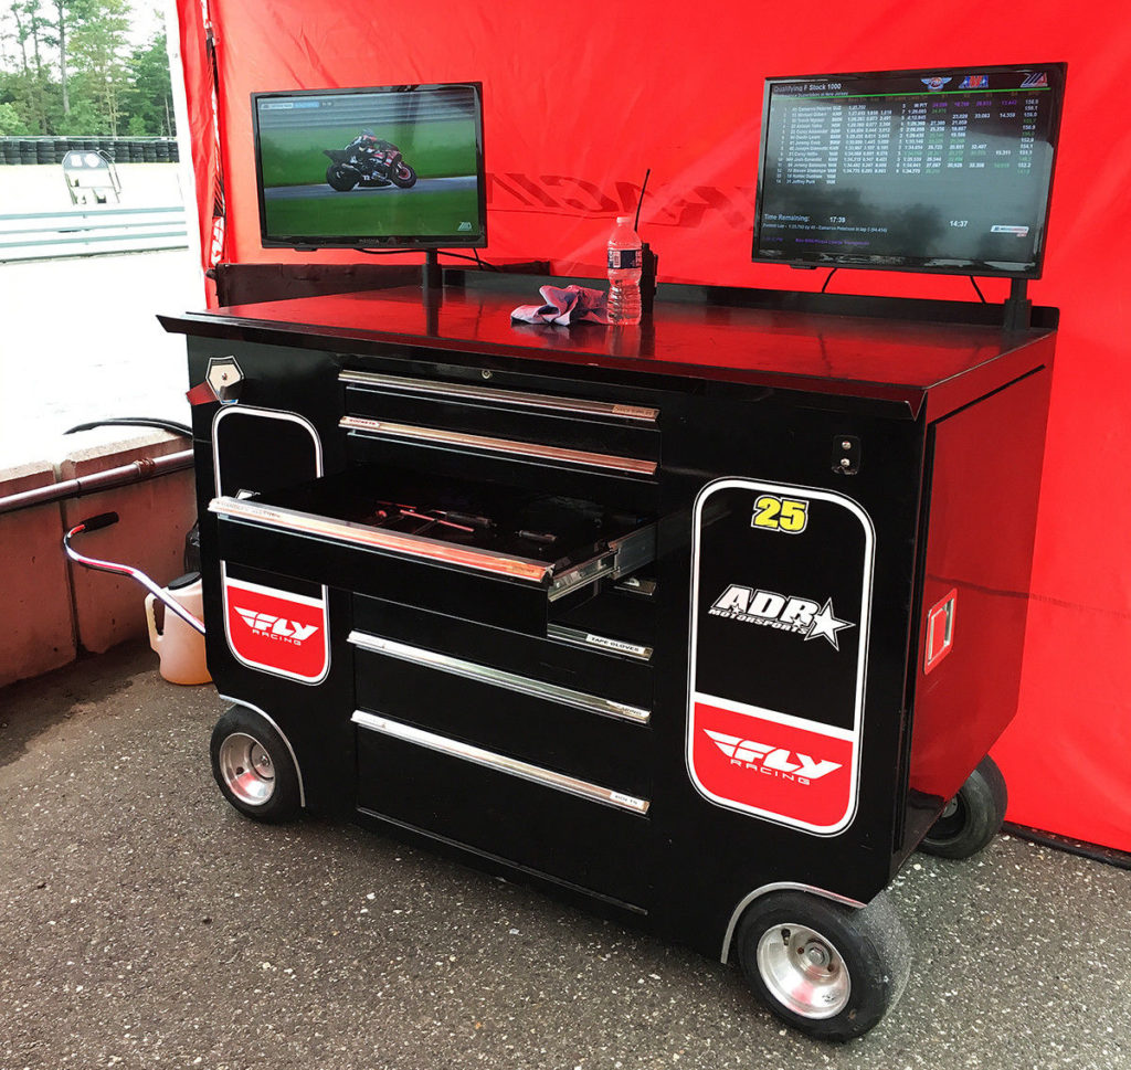
[(649, 801), (357, 711), (366, 813), (644, 909)]

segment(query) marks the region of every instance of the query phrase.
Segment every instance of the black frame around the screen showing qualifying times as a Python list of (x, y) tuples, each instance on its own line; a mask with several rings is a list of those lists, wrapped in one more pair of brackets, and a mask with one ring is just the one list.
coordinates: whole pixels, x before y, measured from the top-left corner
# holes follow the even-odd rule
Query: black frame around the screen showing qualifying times
[[(931, 77), (956, 77), (968, 74), (993, 75), (993, 74), (1033, 74), (1047, 72), (1050, 75), (1052, 97), (1052, 115), (1050, 117), (1048, 140), (1052, 146), (1052, 161), (1048, 170), (1048, 188), (1043, 206), (1043, 222), (1037, 244), (1034, 248), (1034, 265), (1025, 270), (1008, 270), (993, 267), (986, 261), (968, 260), (964, 264), (955, 265), (932, 265), (931, 257), (903, 258), (883, 257), (884, 262), (869, 264), (861, 262), (858, 253), (845, 253), (843, 257), (829, 253), (813, 253), (812, 256), (770, 256), (759, 250), (759, 233), (761, 226), (761, 213), (763, 204), (763, 190), (766, 180), (766, 158), (768, 153), (768, 130), (771, 101), (771, 87), (782, 84), (795, 84), (808, 81), (827, 80), (849, 80), (867, 78), (931, 78)], [(775, 76), (766, 79), (762, 90), (762, 126), (761, 140), (758, 152), (758, 183), (754, 192), (754, 230), (751, 249), (751, 260), (754, 264), (778, 264), (796, 268), (852, 268), (854, 270), (867, 271), (906, 271), (929, 275), (976, 275), (986, 278), (1041, 278), (1044, 269), (1045, 249), (1048, 238), (1048, 218), (1052, 207), (1053, 179), (1056, 174), (1056, 157), (1059, 154), (1061, 117), (1064, 105), (1064, 86), (1068, 80), (1068, 63), (990, 63), (976, 64), (966, 63), (961, 67), (926, 67), (908, 70), (878, 70), (878, 71), (853, 71), (848, 74), (826, 74), (826, 75), (787, 75)], [(974, 90), (972, 90), (974, 92)], [(881, 259), (881, 258), (877, 258)], [(895, 261), (895, 262), (892, 262)]]

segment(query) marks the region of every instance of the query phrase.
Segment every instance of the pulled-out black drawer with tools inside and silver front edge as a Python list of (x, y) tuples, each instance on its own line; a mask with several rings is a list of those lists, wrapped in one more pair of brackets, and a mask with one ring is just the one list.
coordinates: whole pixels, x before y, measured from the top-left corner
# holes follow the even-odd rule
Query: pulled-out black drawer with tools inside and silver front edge
[(209, 511), (226, 561), (535, 633), (551, 604), (581, 601), (656, 553), (648, 518), (386, 467), (221, 497)]

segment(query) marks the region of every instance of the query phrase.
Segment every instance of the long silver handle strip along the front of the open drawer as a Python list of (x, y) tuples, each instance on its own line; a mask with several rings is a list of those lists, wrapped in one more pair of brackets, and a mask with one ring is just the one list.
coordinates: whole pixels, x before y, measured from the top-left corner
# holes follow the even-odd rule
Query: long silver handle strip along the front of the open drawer
[(349, 520), (334, 520), (329, 517), (300, 512), (295, 509), (264, 506), (259, 502), (236, 498), (214, 498), (208, 503), (208, 511), (231, 520), (245, 520), (300, 535), (316, 535), (357, 546), (388, 550), (409, 558), (423, 558), (440, 564), (464, 566), (482, 572), (528, 580), (534, 584), (549, 584), (553, 569), (552, 566), (543, 561), (512, 558), (491, 550), (452, 546), (433, 538), (421, 538), (416, 535), (372, 528), (362, 524), (353, 524)]

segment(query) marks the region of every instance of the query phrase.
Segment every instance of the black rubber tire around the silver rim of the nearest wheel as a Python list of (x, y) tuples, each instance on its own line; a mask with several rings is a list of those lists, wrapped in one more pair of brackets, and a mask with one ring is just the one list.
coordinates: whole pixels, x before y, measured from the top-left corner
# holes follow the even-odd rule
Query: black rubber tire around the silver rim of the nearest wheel
[[(758, 967), (758, 943), (778, 925), (805, 925), (839, 951), (849, 977), (848, 1002), (831, 1018), (808, 1018), (767, 987)], [(880, 892), (852, 907), (805, 891), (775, 891), (743, 914), (735, 949), (746, 984), (774, 1015), (821, 1041), (851, 1041), (875, 1026), (899, 1002), (910, 974), (910, 943), (903, 922)]]

